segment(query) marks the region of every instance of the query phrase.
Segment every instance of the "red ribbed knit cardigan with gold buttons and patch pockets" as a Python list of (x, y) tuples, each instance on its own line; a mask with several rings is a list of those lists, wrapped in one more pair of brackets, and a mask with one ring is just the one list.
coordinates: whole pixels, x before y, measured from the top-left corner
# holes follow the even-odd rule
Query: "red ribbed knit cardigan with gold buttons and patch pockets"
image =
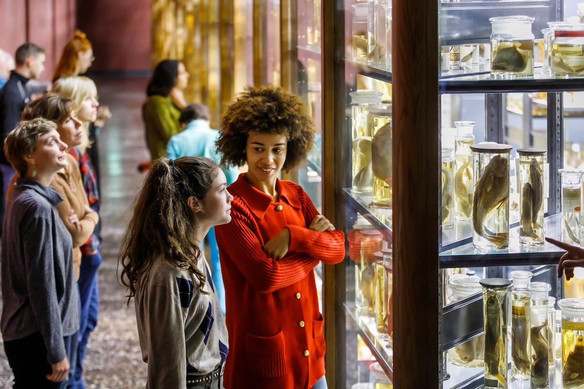
[[(310, 389), (325, 374), (324, 320), (312, 269), (345, 258), (342, 231), (307, 227), (318, 211), (300, 185), (277, 181), (279, 202), (241, 174), (228, 190), (231, 223), (215, 227), (225, 284), (229, 354), (226, 389)], [(280, 261), (264, 244), (284, 227), (290, 246)]]

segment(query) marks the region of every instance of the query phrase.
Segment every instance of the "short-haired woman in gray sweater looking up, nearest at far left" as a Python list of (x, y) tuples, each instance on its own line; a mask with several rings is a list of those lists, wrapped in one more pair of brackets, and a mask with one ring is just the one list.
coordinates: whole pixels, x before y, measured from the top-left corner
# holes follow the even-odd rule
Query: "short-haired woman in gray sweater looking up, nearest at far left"
[(4, 349), (14, 387), (64, 388), (77, 346), (79, 307), (71, 234), (49, 185), (67, 166), (67, 145), (45, 119), (22, 121), (4, 152), (20, 174), (6, 207), (2, 234)]

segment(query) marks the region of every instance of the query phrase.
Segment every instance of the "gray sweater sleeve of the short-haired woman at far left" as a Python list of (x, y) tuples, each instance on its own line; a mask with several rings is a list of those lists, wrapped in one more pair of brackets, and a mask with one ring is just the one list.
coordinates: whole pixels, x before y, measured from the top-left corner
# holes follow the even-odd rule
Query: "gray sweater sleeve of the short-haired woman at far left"
[(23, 254), (30, 306), (47, 348), (47, 362), (53, 364), (67, 356), (55, 286), (53, 226), (46, 218), (29, 218), (24, 231)]

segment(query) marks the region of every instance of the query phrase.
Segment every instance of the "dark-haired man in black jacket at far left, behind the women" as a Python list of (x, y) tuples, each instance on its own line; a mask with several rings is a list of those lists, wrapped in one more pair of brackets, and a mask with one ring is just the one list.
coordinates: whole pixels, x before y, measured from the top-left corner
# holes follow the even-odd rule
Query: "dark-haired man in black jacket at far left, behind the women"
[(30, 92), (26, 89), (29, 79), (37, 79), (44, 71), (46, 59), (43, 48), (34, 43), (25, 43), (16, 49), (16, 68), (11, 71), (10, 78), (0, 89), (0, 171), (2, 173), (2, 198), (0, 198), (0, 232), (4, 219), (4, 204), (6, 190), (14, 174), (12, 166), (4, 155), (4, 139), (20, 121), (20, 114), (30, 102)]

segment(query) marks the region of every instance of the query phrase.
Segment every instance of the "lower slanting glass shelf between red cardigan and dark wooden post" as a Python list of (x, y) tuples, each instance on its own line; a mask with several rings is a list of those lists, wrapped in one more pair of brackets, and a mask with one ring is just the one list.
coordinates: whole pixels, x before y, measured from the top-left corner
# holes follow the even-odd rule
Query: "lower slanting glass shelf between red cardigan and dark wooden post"
[(346, 302), (345, 306), (347, 321), (350, 321), (356, 327), (357, 333), (375, 356), (381, 369), (387, 374), (387, 377), (394, 379), (394, 352), (387, 341), (380, 339), (377, 332), (375, 319), (369, 316), (360, 315), (357, 312), (355, 303)]

